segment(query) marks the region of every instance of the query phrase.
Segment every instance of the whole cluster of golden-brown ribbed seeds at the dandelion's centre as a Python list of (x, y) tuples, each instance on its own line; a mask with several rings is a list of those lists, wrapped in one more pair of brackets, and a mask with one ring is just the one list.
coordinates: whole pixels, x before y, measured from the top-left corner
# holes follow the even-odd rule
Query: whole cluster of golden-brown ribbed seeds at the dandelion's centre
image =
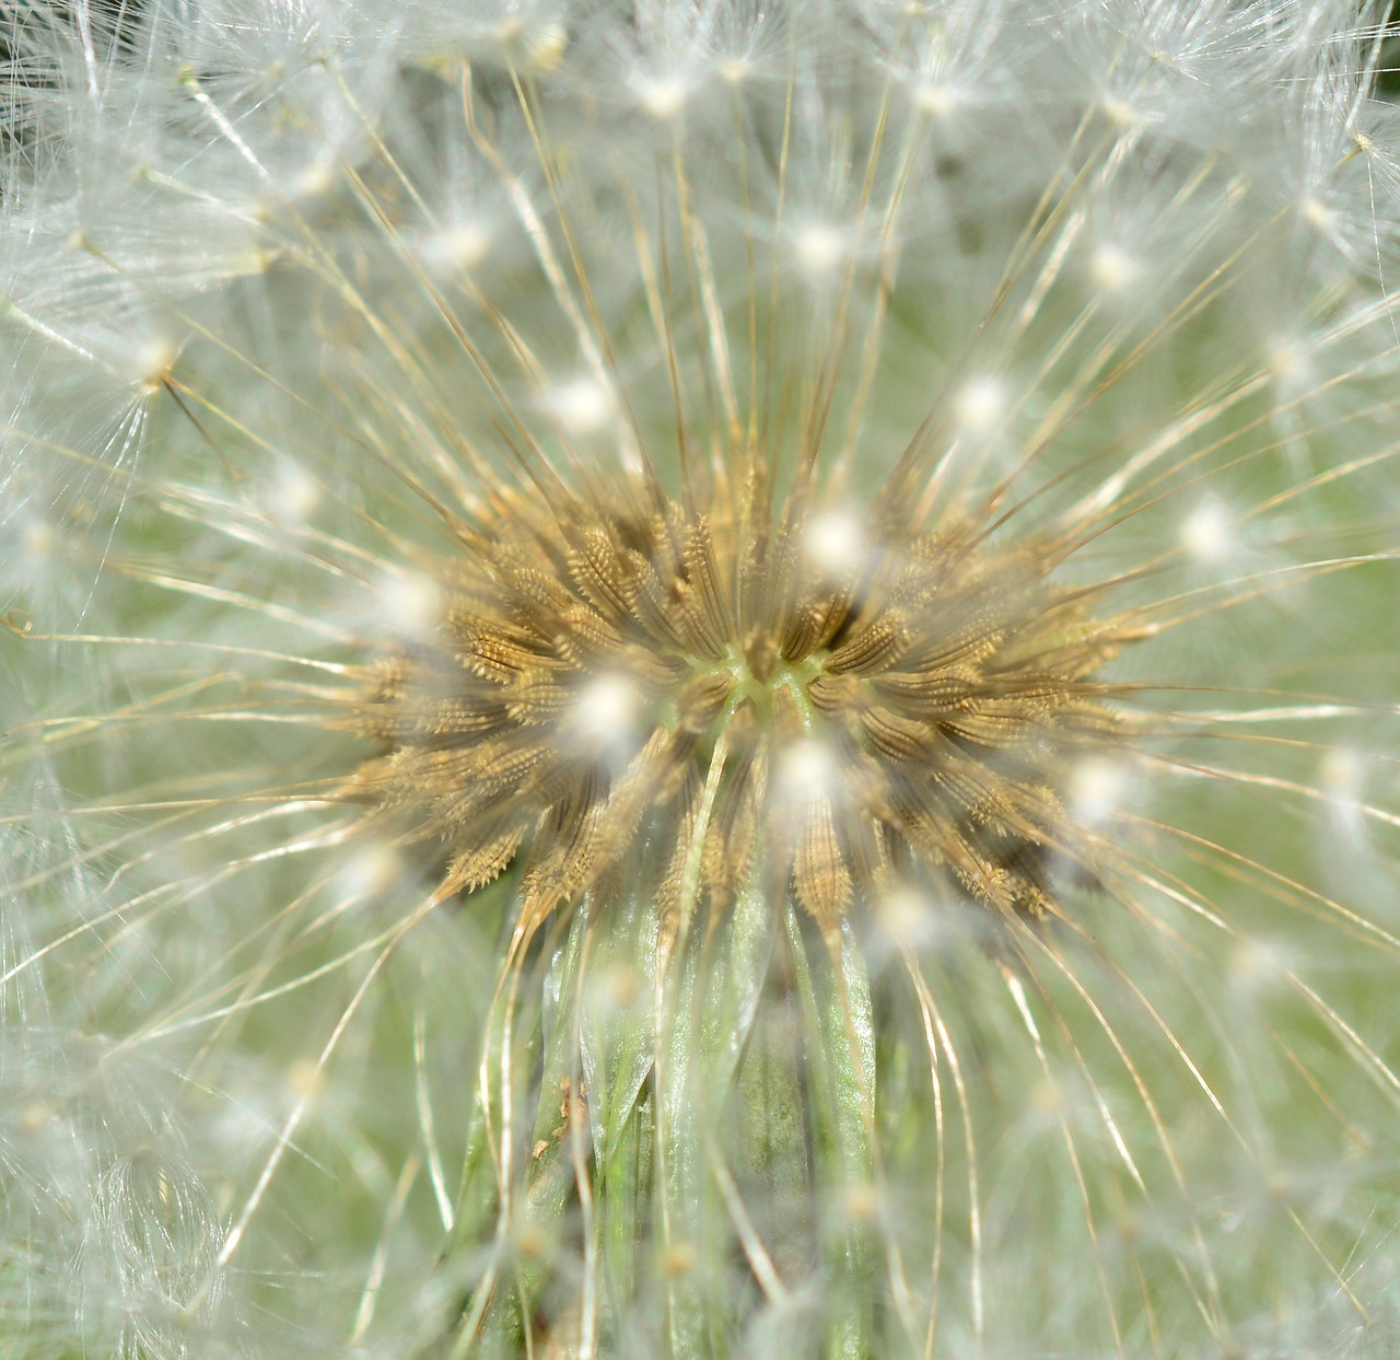
[(830, 930), (903, 884), (1040, 916), (1054, 864), (1092, 874), (1061, 790), (1119, 637), (1051, 545), (881, 524), (833, 569), (797, 497), (631, 500), (503, 499), (368, 676), (353, 796), (444, 847), (440, 895), (521, 859), (525, 924), (631, 880), (672, 920), (790, 887)]

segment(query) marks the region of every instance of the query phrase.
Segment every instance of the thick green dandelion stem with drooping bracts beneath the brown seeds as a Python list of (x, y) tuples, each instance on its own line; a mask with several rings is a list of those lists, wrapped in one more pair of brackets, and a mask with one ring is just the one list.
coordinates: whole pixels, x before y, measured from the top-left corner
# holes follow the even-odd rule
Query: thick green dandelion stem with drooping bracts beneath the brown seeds
[(721, 1360), (736, 1338), (773, 1356), (874, 1353), (862, 954), (833, 954), (795, 902), (753, 887), (672, 951), (662, 926), (638, 891), (606, 910), (585, 899), (525, 964), (508, 1056), (497, 1014), (483, 1069), (511, 1071), (517, 1126), (487, 1084), (444, 1261), (473, 1287), (444, 1354), (606, 1356), (638, 1332), (675, 1357)]

